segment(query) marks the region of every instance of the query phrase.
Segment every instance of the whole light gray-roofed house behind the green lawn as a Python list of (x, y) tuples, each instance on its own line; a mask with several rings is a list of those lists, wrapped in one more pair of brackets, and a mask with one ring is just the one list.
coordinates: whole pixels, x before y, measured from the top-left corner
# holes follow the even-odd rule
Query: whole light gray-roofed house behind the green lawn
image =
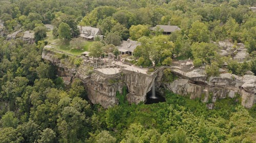
[(90, 26), (77, 26), (80, 31), (80, 37), (85, 38), (87, 40), (95, 40), (96, 37), (103, 39), (101, 35), (100, 29)]

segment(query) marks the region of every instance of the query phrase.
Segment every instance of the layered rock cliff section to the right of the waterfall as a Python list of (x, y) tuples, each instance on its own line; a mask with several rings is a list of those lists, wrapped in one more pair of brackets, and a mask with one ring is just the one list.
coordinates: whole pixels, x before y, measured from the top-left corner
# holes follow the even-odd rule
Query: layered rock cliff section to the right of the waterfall
[(189, 95), (190, 99), (201, 98), (203, 102), (216, 102), (217, 99), (233, 98), (236, 94), (242, 96), (242, 105), (251, 108), (256, 102), (256, 76), (243, 77), (230, 73), (222, 73), (219, 77), (206, 80), (204, 70), (196, 69), (183, 72), (173, 69), (179, 76), (173, 82), (163, 83), (164, 88), (180, 95)]

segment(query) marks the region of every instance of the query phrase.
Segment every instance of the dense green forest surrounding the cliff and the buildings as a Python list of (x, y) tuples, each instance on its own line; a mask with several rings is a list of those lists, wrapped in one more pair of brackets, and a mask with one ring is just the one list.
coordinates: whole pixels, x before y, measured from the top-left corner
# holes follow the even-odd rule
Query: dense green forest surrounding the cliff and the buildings
[[(79, 35), (77, 25), (90, 25), (105, 37), (93, 44), (95, 55), (130, 38), (141, 42), (134, 53), (137, 65), (191, 58), (195, 66), (205, 64), (209, 76), (218, 75), (224, 62), (233, 74), (256, 74), (253, 6), (254, 0), (0, 0), (7, 34), (35, 32), (34, 44), (0, 38), (0, 142), (255, 142), (256, 106), (244, 108), (239, 95), (218, 100), (212, 110), (200, 99), (169, 91), (166, 102), (135, 105), (124, 99), (104, 109), (86, 100), (79, 79), (65, 87), (56, 67), (41, 59), (49, 42), (44, 24), (53, 24), (53, 35), (63, 43)], [(167, 36), (149, 30), (169, 21), (181, 31)], [(234, 48), (244, 43), (250, 62), (220, 58), (213, 42), (221, 40)]]

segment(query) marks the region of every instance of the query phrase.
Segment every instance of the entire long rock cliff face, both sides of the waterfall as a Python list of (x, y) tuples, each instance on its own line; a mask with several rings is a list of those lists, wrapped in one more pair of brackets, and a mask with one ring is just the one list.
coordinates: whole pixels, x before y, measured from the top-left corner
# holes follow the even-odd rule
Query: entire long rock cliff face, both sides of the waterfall
[[(60, 51), (54, 51), (46, 46), (42, 52), (42, 58), (50, 61), (58, 67), (58, 76), (62, 77), (65, 84), (72, 83), (74, 78), (83, 81), (88, 92), (88, 98), (93, 104), (100, 104), (105, 108), (118, 104), (116, 93), (122, 93), (126, 87), (127, 100), (131, 103), (144, 102), (146, 93), (152, 88), (164, 87), (176, 94), (188, 95), (190, 99), (201, 98), (203, 102), (216, 102), (217, 99), (233, 98), (237, 94), (242, 96), (242, 105), (250, 108), (256, 102), (256, 76), (245, 75), (243, 77), (222, 73), (219, 77), (207, 79), (204, 68), (193, 69), (191, 62), (184, 62), (171, 66), (161, 67), (152, 74), (120, 69), (115, 74), (103, 74), (93, 70), (91, 63), (82, 60), (79, 66), (75, 65), (73, 55), (67, 55)], [(80, 57), (82, 59), (82, 57)], [(164, 69), (170, 68), (179, 78), (173, 82), (163, 82)], [(213, 107), (210, 105), (209, 108)]]

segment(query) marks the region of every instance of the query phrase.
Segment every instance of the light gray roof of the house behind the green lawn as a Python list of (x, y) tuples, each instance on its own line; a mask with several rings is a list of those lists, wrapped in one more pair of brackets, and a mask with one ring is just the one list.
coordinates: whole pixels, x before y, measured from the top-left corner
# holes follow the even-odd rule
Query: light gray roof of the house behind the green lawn
[(96, 35), (100, 35), (99, 28), (89, 26), (77, 26), (80, 31), (80, 36), (85, 38), (93, 38)]

